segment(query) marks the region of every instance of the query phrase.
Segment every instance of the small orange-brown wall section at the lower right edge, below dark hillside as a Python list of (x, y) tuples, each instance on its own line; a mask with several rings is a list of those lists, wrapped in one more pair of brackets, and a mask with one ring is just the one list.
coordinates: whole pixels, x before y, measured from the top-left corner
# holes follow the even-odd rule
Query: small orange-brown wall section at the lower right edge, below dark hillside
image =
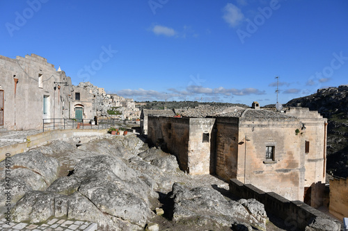
[(347, 178), (330, 180), (329, 211), (339, 219), (348, 217), (348, 181)]

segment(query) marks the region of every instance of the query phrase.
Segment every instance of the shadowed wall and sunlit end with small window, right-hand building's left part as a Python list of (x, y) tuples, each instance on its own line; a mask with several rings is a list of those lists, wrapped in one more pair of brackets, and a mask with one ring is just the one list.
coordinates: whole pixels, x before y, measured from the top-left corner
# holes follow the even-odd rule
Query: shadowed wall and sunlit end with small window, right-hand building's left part
[(153, 144), (175, 155), (182, 171), (191, 175), (209, 174), (214, 121), (208, 118), (149, 116), (148, 137)]

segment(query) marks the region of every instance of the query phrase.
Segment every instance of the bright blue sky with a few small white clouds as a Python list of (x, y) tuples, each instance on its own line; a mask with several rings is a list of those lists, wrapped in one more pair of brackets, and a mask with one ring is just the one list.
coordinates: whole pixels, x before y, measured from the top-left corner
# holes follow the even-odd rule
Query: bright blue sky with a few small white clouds
[(0, 1), (1, 52), (138, 101), (261, 105), (348, 84), (348, 1)]

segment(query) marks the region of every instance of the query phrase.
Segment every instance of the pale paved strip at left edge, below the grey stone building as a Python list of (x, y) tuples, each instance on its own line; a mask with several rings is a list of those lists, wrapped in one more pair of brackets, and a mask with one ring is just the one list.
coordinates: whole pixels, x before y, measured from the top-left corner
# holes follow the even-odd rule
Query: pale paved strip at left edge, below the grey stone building
[(26, 137), (42, 132), (42, 130), (19, 130), (0, 132), (0, 147), (26, 142)]

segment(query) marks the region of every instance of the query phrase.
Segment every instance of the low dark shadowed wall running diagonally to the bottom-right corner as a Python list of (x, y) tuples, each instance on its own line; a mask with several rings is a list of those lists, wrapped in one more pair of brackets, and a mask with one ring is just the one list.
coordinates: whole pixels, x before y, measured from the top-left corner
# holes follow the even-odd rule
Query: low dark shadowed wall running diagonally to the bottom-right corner
[(264, 204), (267, 213), (274, 214), (285, 221), (286, 230), (307, 230), (306, 228), (312, 226), (313, 222), (320, 223), (319, 219), (324, 221), (323, 225), (327, 225), (326, 228), (308, 230), (340, 230), (340, 224), (337, 221), (299, 200), (287, 200), (274, 192), (267, 193), (253, 185), (244, 185), (237, 179), (230, 180), (230, 192), (240, 198), (255, 198)]

